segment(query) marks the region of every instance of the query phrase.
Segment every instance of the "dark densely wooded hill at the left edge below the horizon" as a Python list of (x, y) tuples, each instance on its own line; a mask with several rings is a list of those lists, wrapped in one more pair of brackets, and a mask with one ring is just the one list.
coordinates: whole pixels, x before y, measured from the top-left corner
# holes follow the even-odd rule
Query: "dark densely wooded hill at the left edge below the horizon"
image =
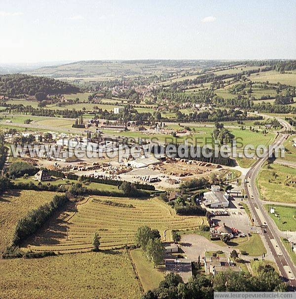
[(24, 74), (0, 75), (0, 95), (19, 97), (45, 94), (76, 93), (79, 88), (53, 78)]

